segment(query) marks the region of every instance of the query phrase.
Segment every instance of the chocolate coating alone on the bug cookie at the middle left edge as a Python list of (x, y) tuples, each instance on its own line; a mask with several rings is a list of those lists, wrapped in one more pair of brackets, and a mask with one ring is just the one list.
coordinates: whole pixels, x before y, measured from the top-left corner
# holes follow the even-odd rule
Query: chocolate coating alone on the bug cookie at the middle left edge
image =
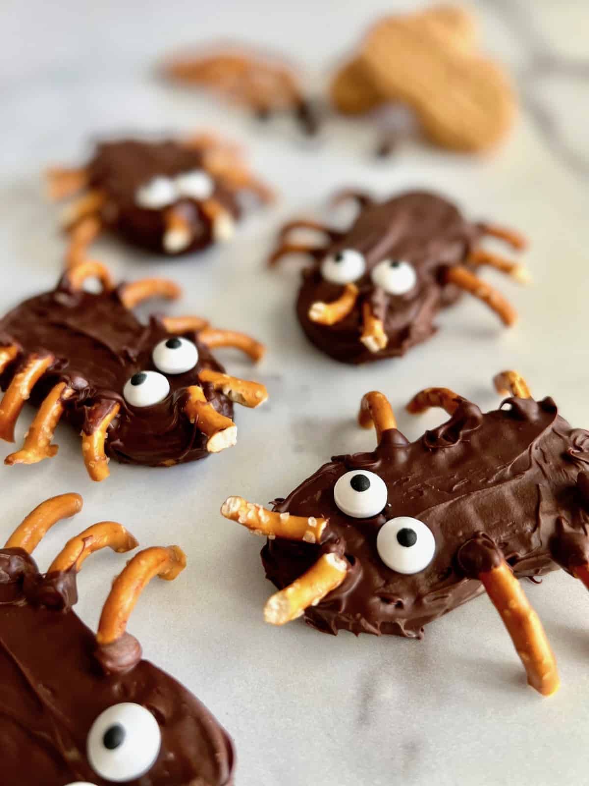
[[(119, 415), (112, 421), (104, 450), (117, 461), (143, 465), (170, 465), (207, 457), (207, 437), (191, 424), (182, 411), (185, 391), (200, 385), (216, 410), (233, 417), (232, 402), (212, 385), (201, 384), (202, 369), (224, 371), (210, 350), (199, 343), (194, 332), (184, 334), (196, 343), (199, 362), (183, 374), (166, 375), (170, 394), (154, 406), (133, 407), (123, 399), (123, 387), (134, 373), (157, 370), (152, 350), (159, 341), (171, 337), (163, 322), (152, 318), (142, 325), (127, 309), (116, 290), (100, 295), (73, 292), (65, 279), (53, 292), (24, 301), (0, 320), (0, 345), (16, 343), (24, 354), (48, 351), (56, 361), (33, 388), (31, 402), (36, 406), (58, 382), (75, 388), (75, 395), (64, 402), (63, 420), (76, 432), (90, 434), (101, 417), (89, 407), (94, 403), (117, 401)], [(2, 388), (8, 386), (17, 363), (0, 376)], [(103, 413), (104, 414), (104, 413)]]

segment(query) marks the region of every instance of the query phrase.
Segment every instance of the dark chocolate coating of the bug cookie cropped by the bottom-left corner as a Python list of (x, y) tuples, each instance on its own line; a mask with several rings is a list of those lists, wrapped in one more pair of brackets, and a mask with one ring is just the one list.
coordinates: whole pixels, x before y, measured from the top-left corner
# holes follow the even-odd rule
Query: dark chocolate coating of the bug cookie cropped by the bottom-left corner
[[(16, 555), (15, 552), (21, 552)], [(9, 553), (7, 553), (9, 552)], [(94, 720), (113, 704), (146, 707), (159, 724), (162, 744), (148, 773), (130, 786), (231, 786), (232, 741), (206, 707), (169, 674), (140, 660), (124, 674), (105, 675), (96, 638), (65, 604), (38, 604), (38, 591), (56, 576), (37, 574), (32, 596), (21, 578), (35, 563), (21, 549), (0, 550), (0, 564), (20, 557), (10, 584), (0, 584), (0, 739), (2, 783), (65, 786), (89, 781), (108, 786), (86, 758)], [(67, 582), (75, 575), (67, 574)], [(63, 578), (63, 575), (62, 575)], [(12, 601), (6, 601), (10, 589)]]

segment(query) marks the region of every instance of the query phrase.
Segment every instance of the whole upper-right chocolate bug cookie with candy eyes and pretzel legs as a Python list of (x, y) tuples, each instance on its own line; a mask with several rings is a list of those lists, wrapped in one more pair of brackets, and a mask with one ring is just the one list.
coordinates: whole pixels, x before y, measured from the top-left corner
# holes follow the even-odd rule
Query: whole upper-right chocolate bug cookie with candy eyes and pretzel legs
[[(313, 221), (294, 221), (280, 232), (270, 258), (308, 254), (313, 266), (303, 273), (297, 314), (316, 347), (344, 363), (365, 363), (404, 354), (435, 331), (441, 308), (470, 292), (492, 308), (504, 325), (516, 312), (503, 296), (477, 276), (492, 266), (518, 281), (523, 267), (481, 247), (486, 235), (524, 248), (518, 233), (485, 222), (469, 222), (452, 202), (415, 191), (379, 202), (366, 193), (346, 191), (335, 202), (359, 205), (349, 230)], [(293, 243), (300, 229), (323, 233), (325, 244)]]

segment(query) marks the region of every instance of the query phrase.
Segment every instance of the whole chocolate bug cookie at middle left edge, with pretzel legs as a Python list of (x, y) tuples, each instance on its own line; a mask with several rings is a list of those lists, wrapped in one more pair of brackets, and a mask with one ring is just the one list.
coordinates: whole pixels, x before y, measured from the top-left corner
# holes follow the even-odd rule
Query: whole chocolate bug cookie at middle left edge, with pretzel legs
[[(100, 278), (99, 294), (82, 288), (87, 277)], [(234, 445), (233, 402), (256, 407), (267, 393), (225, 374), (211, 350), (236, 347), (259, 360), (264, 347), (198, 317), (153, 316), (143, 325), (133, 313), (146, 299), (180, 293), (157, 278), (115, 287), (107, 268), (87, 262), (0, 319), (0, 439), (14, 441), (27, 399), (38, 407), (24, 446), (5, 464), (54, 456), (60, 419), (82, 434), (93, 480), (108, 477), (108, 457), (169, 467)]]

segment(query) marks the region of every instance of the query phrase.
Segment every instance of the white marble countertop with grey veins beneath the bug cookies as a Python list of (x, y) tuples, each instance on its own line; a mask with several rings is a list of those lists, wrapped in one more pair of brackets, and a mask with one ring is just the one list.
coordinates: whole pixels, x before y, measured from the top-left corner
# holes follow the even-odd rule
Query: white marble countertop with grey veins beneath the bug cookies
[[(507, 61), (522, 90), (518, 129), (488, 160), (413, 144), (390, 160), (371, 158), (368, 126), (331, 121), (320, 144), (289, 122), (261, 127), (240, 111), (159, 83), (155, 61), (177, 45), (244, 38), (284, 51), (324, 74), (390, 2), (16, 2), (0, 9), (0, 311), (52, 288), (63, 256), (57, 211), (40, 172), (82, 161), (88, 141), (118, 130), (211, 127), (243, 141), (255, 169), (280, 189), (276, 208), (244, 222), (235, 241), (166, 263), (101, 241), (94, 254), (117, 277), (162, 274), (184, 285), (170, 313), (196, 313), (251, 332), (268, 355), (259, 369), (231, 351), (229, 373), (270, 391), (268, 406), (238, 410), (237, 446), (170, 470), (112, 463), (93, 484), (79, 439), (59, 428), (59, 455), (33, 467), (0, 469), (2, 531), (43, 498), (79, 491), (85, 508), (38, 549), (42, 566), (82, 527), (125, 523), (141, 545), (177, 542), (188, 569), (174, 584), (153, 582), (130, 622), (145, 656), (187, 685), (236, 740), (240, 786), (379, 784), (557, 784), (587, 780), (589, 598), (579, 582), (551, 575), (526, 583), (558, 658), (561, 691), (542, 699), (525, 676), (485, 597), (426, 629), (423, 641), (342, 633), (327, 637), (292, 623), (266, 626), (272, 591), (262, 541), (218, 514), (228, 494), (265, 503), (287, 494), (331, 454), (369, 449), (374, 437), (353, 417), (360, 396), (385, 391), (411, 438), (441, 421), (404, 413), (415, 391), (453, 387), (484, 408), (496, 405), (491, 378), (525, 373), (536, 397), (587, 425), (587, 6), (507, 0), (479, 6), (488, 50)], [(567, 59), (567, 58), (572, 59)], [(503, 329), (474, 299), (441, 314), (440, 332), (400, 361), (338, 365), (306, 343), (294, 318), (296, 264), (263, 264), (280, 223), (320, 215), (342, 185), (386, 195), (440, 189), (473, 219), (529, 235), (535, 285), (485, 274), (516, 304), (521, 321)], [(159, 307), (159, 306), (158, 306)], [(31, 419), (25, 410), (22, 439)], [(0, 457), (9, 446), (0, 447)], [(100, 553), (79, 577), (79, 613), (96, 626), (124, 558)]]

